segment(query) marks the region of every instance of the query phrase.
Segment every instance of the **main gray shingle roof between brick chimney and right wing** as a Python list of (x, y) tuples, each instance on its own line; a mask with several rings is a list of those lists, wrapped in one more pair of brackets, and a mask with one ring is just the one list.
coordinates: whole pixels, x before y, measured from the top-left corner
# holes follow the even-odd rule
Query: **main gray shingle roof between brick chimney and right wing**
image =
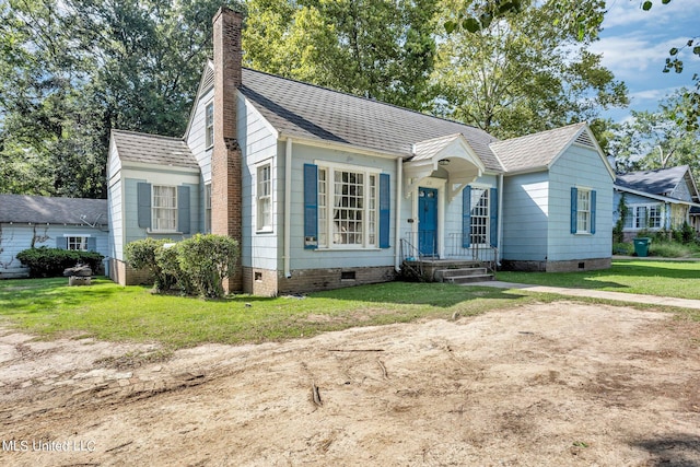
[(369, 98), (243, 69), (241, 92), (280, 132), (412, 156), (415, 143), (462, 133), (487, 168), (502, 171), (483, 130)]

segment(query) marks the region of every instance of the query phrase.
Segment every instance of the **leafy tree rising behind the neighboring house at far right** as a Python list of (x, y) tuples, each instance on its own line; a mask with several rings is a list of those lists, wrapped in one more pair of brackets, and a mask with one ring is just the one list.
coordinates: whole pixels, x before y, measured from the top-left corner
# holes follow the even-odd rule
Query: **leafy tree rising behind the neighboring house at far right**
[(686, 126), (688, 90), (678, 90), (658, 105), (656, 112), (632, 110), (632, 119), (621, 124), (610, 142), (622, 172), (689, 165), (700, 176), (700, 131)]

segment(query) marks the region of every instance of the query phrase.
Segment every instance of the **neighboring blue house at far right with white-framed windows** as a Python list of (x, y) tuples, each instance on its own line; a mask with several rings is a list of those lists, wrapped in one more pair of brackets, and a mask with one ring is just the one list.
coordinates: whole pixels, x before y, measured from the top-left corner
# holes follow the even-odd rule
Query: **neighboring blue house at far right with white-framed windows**
[(622, 197), (628, 207), (622, 230), (626, 241), (641, 231), (680, 229), (684, 222), (695, 224), (696, 230), (700, 226), (699, 219), (691, 213), (700, 205), (698, 187), (688, 165), (618, 175), (615, 180), (614, 222), (620, 218)]

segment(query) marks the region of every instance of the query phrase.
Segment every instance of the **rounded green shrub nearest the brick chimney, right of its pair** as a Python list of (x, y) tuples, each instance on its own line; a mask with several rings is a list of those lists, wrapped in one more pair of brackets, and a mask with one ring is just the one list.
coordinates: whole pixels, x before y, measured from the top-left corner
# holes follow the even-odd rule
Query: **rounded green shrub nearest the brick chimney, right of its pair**
[(221, 297), (223, 280), (235, 271), (238, 243), (224, 235), (197, 234), (177, 245), (177, 256), (199, 295)]

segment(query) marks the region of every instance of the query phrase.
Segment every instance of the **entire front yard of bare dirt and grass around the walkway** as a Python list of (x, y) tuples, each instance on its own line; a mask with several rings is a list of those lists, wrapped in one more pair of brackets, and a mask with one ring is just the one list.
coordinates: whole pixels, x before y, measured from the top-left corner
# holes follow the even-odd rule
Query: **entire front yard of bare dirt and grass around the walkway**
[[(517, 280), (691, 297), (697, 277), (618, 261)], [(203, 301), (3, 281), (0, 458), (699, 465), (700, 313), (668, 312), (427, 283)]]

